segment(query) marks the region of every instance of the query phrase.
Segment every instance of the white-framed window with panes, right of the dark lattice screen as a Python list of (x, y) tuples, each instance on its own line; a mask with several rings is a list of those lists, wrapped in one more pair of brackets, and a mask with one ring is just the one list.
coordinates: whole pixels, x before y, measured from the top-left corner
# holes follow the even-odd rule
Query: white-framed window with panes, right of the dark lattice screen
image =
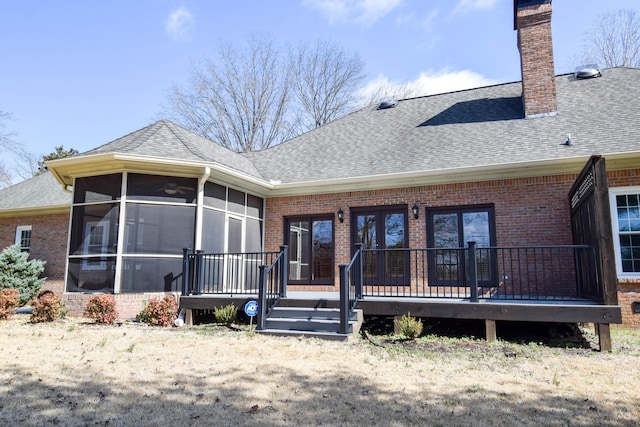
[(640, 277), (640, 187), (609, 193), (618, 276)]

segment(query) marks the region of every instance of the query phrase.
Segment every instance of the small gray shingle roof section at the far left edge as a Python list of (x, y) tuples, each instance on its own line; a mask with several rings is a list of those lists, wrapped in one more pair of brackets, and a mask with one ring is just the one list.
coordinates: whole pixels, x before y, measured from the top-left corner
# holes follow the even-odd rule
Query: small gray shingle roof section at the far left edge
[(71, 205), (71, 194), (49, 172), (0, 190), (0, 210)]

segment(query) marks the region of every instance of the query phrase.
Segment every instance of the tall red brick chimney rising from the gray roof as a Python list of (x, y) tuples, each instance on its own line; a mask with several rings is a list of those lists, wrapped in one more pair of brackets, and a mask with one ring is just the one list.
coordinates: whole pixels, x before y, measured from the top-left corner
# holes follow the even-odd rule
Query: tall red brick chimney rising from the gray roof
[(551, 0), (514, 0), (526, 118), (556, 115)]

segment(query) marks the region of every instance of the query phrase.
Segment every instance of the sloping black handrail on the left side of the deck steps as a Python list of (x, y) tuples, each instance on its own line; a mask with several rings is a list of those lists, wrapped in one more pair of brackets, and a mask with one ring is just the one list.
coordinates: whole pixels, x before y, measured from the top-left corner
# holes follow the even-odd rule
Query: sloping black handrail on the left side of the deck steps
[(258, 320), (256, 328), (264, 330), (267, 317), (278, 304), (280, 298), (287, 296), (287, 279), (289, 271), (289, 250), (281, 246), (280, 252), (273, 262), (260, 266), (260, 283), (258, 286)]

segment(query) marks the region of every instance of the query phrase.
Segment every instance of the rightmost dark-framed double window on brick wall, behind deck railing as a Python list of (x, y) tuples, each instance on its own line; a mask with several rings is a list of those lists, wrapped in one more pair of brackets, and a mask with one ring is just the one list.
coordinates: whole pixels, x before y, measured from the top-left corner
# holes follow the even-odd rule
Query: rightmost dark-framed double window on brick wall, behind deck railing
[[(465, 285), (465, 252), (468, 242), (476, 247), (495, 246), (493, 207), (465, 206), (427, 210), (427, 239), (430, 248), (429, 282), (435, 285)], [(490, 251), (476, 253), (478, 283), (491, 284), (496, 276)]]

